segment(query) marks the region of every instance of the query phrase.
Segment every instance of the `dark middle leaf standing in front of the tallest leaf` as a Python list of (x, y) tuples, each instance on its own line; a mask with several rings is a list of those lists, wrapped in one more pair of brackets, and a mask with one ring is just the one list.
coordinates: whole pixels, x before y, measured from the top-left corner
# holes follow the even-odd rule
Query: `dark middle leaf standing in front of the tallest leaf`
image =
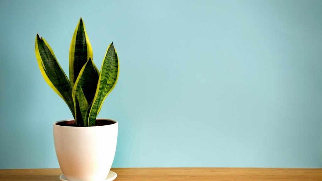
[[(78, 110), (77, 106), (79, 106), (79, 110), (81, 112), (81, 115), (85, 115), (88, 109), (88, 102), (92, 102), (95, 92), (96, 92), (96, 87), (97, 83), (99, 80), (99, 72), (97, 70), (97, 67), (95, 66), (94, 62), (92, 61), (91, 58), (85, 63), (83, 68), (80, 71), (79, 76), (77, 77), (77, 80), (74, 84), (73, 91), (72, 91), (72, 97), (74, 100), (74, 105), (75, 105), (75, 110)], [(80, 91), (82, 93), (80, 93)], [(81, 100), (82, 98), (79, 98), (78, 96), (80, 94), (83, 94), (86, 102), (87, 102), (87, 107), (83, 105), (85, 100)], [(81, 95), (82, 96), (82, 95)], [(81, 124), (79, 121), (79, 112), (76, 111), (76, 123)], [(88, 126), (88, 118), (84, 119), (82, 117), (82, 122), (84, 126)]]

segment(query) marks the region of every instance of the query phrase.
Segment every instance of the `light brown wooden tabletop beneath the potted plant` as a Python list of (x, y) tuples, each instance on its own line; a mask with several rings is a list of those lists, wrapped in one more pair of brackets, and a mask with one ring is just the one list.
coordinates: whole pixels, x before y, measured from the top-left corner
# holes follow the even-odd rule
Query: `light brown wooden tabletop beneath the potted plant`
[[(112, 168), (115, 181), (322, 181), (322, 168)], [(0, 181), (60, 181), (60, 169), (0, 170)]]

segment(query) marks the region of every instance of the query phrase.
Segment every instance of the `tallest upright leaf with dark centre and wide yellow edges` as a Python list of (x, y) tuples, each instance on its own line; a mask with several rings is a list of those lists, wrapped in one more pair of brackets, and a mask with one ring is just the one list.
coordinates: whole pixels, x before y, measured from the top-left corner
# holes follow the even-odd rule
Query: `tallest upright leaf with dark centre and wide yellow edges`
[(69, 50), (69, 79), (71, 87), (74, 87), (74, 83), (82, 67), (89, 58), (93, 59), (93, 51), (85, 30), (85, 24), (80, 18), (71, 39), (71, 47)]

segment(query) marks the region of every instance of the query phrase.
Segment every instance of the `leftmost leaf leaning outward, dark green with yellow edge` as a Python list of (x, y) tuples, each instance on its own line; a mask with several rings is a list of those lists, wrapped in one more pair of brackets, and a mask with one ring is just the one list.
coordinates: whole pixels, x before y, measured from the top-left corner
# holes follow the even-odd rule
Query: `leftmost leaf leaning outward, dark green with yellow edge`
[(37, 62), (43, 78), (48, 85), (67, 103), (74, 115), (74, 103), (71, 96), (71, 84), (57, 62), (54, 52), (44, 38), (40, 38), (37, 34), (35, 42), (35, 52)]

